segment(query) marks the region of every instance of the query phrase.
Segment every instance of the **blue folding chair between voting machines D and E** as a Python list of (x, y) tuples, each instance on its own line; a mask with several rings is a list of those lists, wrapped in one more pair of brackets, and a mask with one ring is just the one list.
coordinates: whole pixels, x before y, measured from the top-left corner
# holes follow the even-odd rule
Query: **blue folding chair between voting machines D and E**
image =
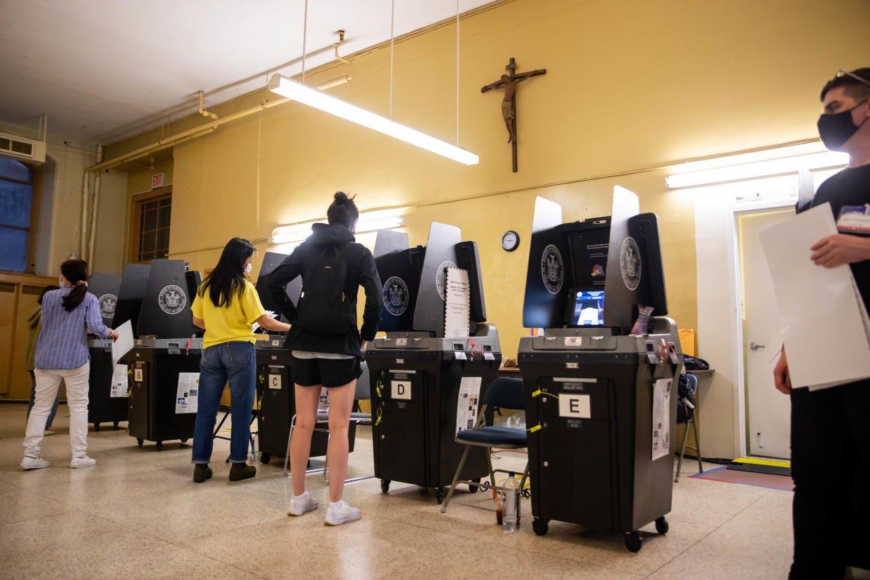
[[(459, 466), (456, 469), (456, 474), (453, 476), (453, 482), (450, 484), (450, 491), (447, 492), (447, 497), (444, 500), (444, 504), (441, 506), (441, 513), (447, 511), (447, 504), (450, 503), (450, 499), (453, 497), (453, 491), (456, 490), (457, 483), (478, 486), (481, 490), (499, 490), (504, 492), (504, 486), (496, 485), (495, 474), (499, 472), (509, 474), (512, 472), (492, 469), (492, 448), (523, 449), (528, 446), (525, 437), (525, 429), (485, 425), (486, 410), (489, 407), (525, 410), (522, 379), (508, 377), (499, 377), (495, 379), (490, 383), (489, 388), (486, 390), (482, 403), (483, 406), (480, 408), (478, 422), (474, 425), (474, 429), (459, 431), (456, 436), (456, 443), (462, 443), (465, 445), (465, 451), (462, 454), (462, 459), (459, 460)], [(472, 446), (486, 448), (486, 461), (489, 462), (490, 468), (490, 483), (477, 483), (465, 479), (459, 479), (459, 474), (462, 473), (462, 468), (465, 466), (465, 459), (468, 457), (468, 452), (472, 449)], [(525, 481), (528, 478), (529, 462), (526, 460), (523, 479), (519, 483), (520, 490), (525, 489)]]

